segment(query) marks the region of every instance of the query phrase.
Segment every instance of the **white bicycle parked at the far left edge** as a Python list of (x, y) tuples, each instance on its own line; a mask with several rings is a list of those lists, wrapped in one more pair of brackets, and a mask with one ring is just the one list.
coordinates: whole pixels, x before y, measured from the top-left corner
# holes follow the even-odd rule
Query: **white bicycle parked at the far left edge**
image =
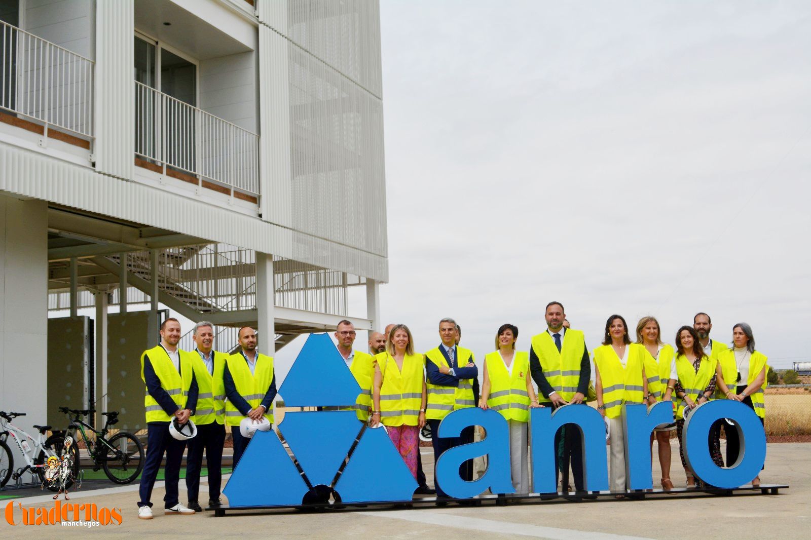
[[(0, 487), (5, 486), (9, 478), (17, 480), (29, 470), (40, 479), (40, 482), (43, 482), (48, 458), (50, 456), (59, 457), (61, 450), (61, 448), (56, 448), (59, 439), (57, 435), (51, 435), (45, 439), (45, 434), (51, 426), (34, 426), (39, 431), (35, 439), (11, 423), (11, 420), (18, 416), (25, 416), (25, 413), (0, 411)], [(14, 469), (14, 456), (11, 455), (11, 448), (8, 448), (8, 444), (6, 444), (9, 436), (14, 439), (26, 463), (25, 467), (19, 471)], [(56, 489), (51, 491), (56, 491)]]

